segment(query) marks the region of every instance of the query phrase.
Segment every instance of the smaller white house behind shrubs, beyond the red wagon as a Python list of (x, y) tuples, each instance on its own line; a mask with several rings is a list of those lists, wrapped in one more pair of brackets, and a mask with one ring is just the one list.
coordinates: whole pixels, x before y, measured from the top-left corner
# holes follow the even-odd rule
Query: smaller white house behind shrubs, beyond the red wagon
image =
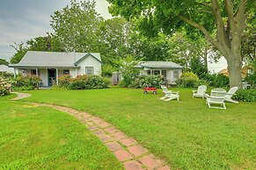
[(141, 74), (160, 74), (168, 84), (175, 84), (182, 74), (182, 66), (172, 61), (141, 61), (136, 66), (141, 68)]

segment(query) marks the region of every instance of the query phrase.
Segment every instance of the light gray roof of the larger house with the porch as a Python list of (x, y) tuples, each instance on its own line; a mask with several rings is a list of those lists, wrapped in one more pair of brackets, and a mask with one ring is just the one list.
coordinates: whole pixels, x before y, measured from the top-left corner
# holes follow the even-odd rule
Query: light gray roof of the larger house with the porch
[[(9, 67), (76, 67), (75, 63), (88, 53), (28, 51), (18, 64)], [(91, 53), (101, 61), (100, 53)]]

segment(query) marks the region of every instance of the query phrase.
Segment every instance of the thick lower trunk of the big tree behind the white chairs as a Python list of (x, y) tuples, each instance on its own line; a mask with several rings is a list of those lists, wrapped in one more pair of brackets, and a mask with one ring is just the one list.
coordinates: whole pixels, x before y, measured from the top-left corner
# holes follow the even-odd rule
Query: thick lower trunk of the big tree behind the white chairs
[(241, 78), (241, 67), (242, 61), (240, 60), (240, 54), (235, 54), (238, 56), (231, 56), (228, 61), (228, 71), (230, 75), (230, 88), (237, 86), (239, 89), (242, 88), (242, 78)]

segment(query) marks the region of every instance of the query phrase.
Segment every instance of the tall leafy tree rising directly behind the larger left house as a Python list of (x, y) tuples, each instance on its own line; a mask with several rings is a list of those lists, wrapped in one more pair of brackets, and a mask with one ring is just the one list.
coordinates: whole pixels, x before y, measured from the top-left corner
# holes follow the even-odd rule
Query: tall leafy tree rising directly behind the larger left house
[(95, 1), (71, 0), (70, 5), (51, 17), (55, 36), (65, 51), (99, 51), (99, 25), (103, 18), (95, 11)]

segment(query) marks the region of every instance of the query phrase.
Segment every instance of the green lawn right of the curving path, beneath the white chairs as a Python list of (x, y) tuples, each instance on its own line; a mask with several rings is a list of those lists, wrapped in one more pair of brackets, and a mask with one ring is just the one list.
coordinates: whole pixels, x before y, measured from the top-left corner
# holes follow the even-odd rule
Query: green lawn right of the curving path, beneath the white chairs
[(255, 103), (208, 109), (178, 89), (180, 102), (142, 89), (37, 90), (24, 101), (55, 103), (104, 118), (174, 169), (255, 169)]

